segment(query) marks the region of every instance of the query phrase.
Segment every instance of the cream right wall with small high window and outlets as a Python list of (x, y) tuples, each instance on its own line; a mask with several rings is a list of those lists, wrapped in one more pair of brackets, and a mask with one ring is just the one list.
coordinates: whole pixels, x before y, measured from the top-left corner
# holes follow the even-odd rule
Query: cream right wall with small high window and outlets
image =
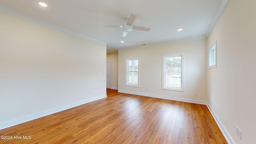
[(208, 37), (208, 48), (217, 40), (217, 68), (208, 69), (208, 102), (236, 144), (255, 143), (255, 6), (255, 0), (230, 0)]

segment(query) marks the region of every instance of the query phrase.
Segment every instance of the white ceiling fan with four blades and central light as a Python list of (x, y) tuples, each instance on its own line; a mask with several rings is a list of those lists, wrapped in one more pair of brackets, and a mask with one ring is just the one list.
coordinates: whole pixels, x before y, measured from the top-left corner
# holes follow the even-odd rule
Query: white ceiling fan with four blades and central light
[(142, 26), (132, 26), (134, 20), (136, 19), (135, 14), (131, 14), (129, 18), (124, 19), (126, 24), (124, 26), (106, 26), (106, 27), (120, 27), (123, 28), (123, 37), (125, 37), (128, 32), (132, 32), (132, 30), (143, 30), (143, 31), (149, 31), (150, 28), (142, 27)]

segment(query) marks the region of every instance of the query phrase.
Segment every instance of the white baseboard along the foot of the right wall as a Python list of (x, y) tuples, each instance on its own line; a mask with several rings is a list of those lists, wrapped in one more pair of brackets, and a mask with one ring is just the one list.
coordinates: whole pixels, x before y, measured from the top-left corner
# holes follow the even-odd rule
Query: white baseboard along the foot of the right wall
[(226, 138), (228, 144), (236, 144), (234, 142), (234, 140), (232, 139), (232, 137), (230, 136), (230, 134), (228, 133), (228, 131), (226, 130), (226, 128), (223, 126), (223, 124), (221, 123), (220, 119), (218, 118), (218, 116), (215, 114), (215, 112), (212, 110), (212, 107), (210, 106), (210, 104), (206, 104), (206, 106), (208, 107), (208, 109), (210, 110), (214, 120), (216, 121), (217, 125), (220, 128), (220, 131), (222, 132), (222, 134), (224, 135), (224, 137)]

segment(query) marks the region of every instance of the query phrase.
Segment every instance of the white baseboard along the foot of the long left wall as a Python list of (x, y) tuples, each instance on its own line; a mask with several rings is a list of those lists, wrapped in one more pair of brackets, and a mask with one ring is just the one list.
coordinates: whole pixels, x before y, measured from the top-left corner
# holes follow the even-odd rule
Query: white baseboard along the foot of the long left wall
[(22, 124), (24, 122), (28, 122), (30, 120), (35, 120), (37, 118), (41, 118), (43, 116), (48, 116), (50, 114), (54, 114), (56, 112), (60, 112), (60, 111), (63, 111), (63, 110), (67, 110), (69, 108), (73, 108), (73, 107), (76, 107), (76, 106), (80, 106), (82, 104), (86, 104), (88, 102), (92, 102), (92, 101), (95, 101), (95, 100), (99, 100), (99, 99), (102, 99), (102, 98), (106, 98), (107, 95), (104, 94), (102, 96), (98, 96), (96, 98), (90, 98), (90, 99), (87, 99), (87, 100), (83, 100), (83, 101), (80, 101), (80, 102), (75, 102), (75, 103), (72, 103), (72, 104), (68, 104), (66, 106), (60, 106), (58, 108), (53, 108), (51, 110), (46, 110), (46, 111), (43, 111), (43, 112), (38, 112), (36, 114), (31, 114), (29, 116), (24, 116), (24, 117), (21, 117), (21, 118), (17, 118), (17, 119), (14, 119), (14, 120), (10, 120), (10, 121), (7, 121), (7, 122), (3, 122), (0, 124), (0, 130), (4, 129), (4, 128), (9, 128), (11, 126), (15, 126), (15, 125), (18, 125), (18, 124)]

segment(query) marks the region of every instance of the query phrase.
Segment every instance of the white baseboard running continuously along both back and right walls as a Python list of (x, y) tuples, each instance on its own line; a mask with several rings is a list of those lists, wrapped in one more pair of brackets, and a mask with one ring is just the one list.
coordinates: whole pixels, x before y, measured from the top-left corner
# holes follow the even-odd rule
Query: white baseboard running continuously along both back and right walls
[(208, 104), (207, 101), (204, 100), (193, 100), (193, 99), (188, 99), (188, 98), (176, 98), (172, 96), (162, 96), (162, 95), (156, 95), (156, 94), (146, 94), (146, 93), (140, 93), (140, 92), (130, 92), (130, 91), (125, 91), (125, 90), (118, 90), (118, 92), (121, 93), (126, 93), (126, 94), (136, 94), (140, 96), (148, 96), (148, 97), (153, 97), (153, 98), (162, 98), (166, 100), (176, 100), (176, 101), (181, 101), (181, 102), (190, 102), (190, 103), (195, 103), (195, 104), (204, 104), (208, 107), (209, 111), (211, 112), (214, 120), (216, 121), (217, 125), (219, 126), (222, 134), (226, 138), (228, 144), (236, 144), (234, 140), (231, 138), (230, 134), (228, 134), (228, 131), (226, 128), (223, 126), (221, 123), (220, 119), (218, 116), (215, 114), (215, 112), (212, 110), (211, 106)]

